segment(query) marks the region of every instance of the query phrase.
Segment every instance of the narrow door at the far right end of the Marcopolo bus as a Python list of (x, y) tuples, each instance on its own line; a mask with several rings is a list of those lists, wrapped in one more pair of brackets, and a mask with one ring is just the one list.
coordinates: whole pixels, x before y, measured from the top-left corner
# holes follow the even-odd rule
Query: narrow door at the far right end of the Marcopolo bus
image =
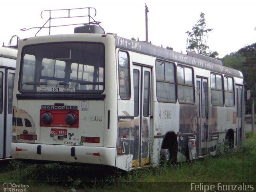
[(243, 87), (236, 85), (236, 114), (233, 112), (233, 120), (236, 119), (236, 143), (239, 145), (242, 140), (242, 96), (243, 96)]

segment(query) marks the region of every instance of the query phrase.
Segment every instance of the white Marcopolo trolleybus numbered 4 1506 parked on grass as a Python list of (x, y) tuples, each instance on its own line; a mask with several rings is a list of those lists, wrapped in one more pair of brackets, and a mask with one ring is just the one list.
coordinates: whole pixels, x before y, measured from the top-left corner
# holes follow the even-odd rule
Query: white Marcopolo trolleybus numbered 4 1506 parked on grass
[(240, 71), (90, 23), (74, 32), (20, 40), (12, 158), (131, 170), (238, 148)]

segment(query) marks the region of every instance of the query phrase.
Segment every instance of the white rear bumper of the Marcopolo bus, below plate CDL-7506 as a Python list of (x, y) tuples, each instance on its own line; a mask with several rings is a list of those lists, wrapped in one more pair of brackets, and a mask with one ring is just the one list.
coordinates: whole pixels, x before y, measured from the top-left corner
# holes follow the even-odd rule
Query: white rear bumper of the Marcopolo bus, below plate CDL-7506
[(13, 159), (115, 166), (116, 148), (11, 143)]

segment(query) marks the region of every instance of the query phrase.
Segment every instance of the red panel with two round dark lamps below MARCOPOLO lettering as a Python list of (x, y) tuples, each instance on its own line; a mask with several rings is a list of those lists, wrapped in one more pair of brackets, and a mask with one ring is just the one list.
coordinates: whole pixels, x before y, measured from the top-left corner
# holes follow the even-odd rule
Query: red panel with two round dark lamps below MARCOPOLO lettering
[(78, 128), (79, 111), (40, 110), (40, 126)]

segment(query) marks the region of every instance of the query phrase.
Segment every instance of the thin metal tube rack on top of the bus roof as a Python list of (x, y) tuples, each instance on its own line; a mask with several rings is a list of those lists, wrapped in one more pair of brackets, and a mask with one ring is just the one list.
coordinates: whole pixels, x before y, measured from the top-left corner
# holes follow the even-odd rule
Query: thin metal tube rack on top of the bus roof
[[(86, 11), (88, 11), (88, 14), (79, 15), (79, 16), (72, 16), (72, 15), (71, 15), (71, 11), (72, 11), (72, 10), (83, 10), (83, 9), (86, 10)], [(37, 28), (37, 29), (39, 29), (38, 32), (40, 32), (40, 30), (41, 30), (42, 28), (49, 28), (49, 35), (50, 35), (50, 33), (51, 33), (51, 28), (52, 28), (52, 27), (62, 27), (62, 26), (72, 26), (72, 25), (84, 25), (84, 26), (88, 26), (88, 27), (87, 27), (87, 28), (88, 28), (88, 33), (90, 33), (90, 25), (97, 25), (97, 26), (99, 26), (99, 27), (102, 29), (103, 33), (105, 33), (104, 29), (100, 26), (100, 23), (101, 23), (101, 22), (94, 20), (94, 18), (92, 18), (92, 16), (90, 15), (90, 11), (91, 11), (91, 10), (94, 10), (94, 12), (95, 12), (94, 16), (96, 16), (96, 9), (93, 8), (93, 7), (72, 8), (72, 9), (44, 10), (44, 11), (41, 12), (41, 18), (43, 18), (43, 17), (42, 17), (42, 13), (43, 13), (43, 12), (49, 12), (49, 18), (48, 18), (48, 20), (44, 23), (44, 25), (43, 25), (42, 27), (22, 28), (22, 29), (20, 29), (20, 30), (26, 31), (26, 30), (30, 30), (30, 29), (35, 29), (35, 28)], [(67, 13), (66, 13), (67, 16), (52, 17), (52, 13), (53, 13), (53, 12), (56, 13), (56, 12), (60, 12), (60, 11), (62, 11), (62, 12), (63, 12), (63, 11), (67, 11)], [(54, 26), (51, 25), (51, 22), (52, 22), (53, 19), (81, 18), (81, 17), (87, 17), (87, 18), (88, 18), (88, 22), (87, 22), (87, 23), (65, 24), (65, 25), (54, 25)], [(46, 24), (47, 24), (48, 22), (49, 22), (49, 26), (46, 26)], [(36, 32), (36, 35), (38, 34), (38, 32)], [(36, 35), (35, 35), (35, 36), (36, 36)]]

